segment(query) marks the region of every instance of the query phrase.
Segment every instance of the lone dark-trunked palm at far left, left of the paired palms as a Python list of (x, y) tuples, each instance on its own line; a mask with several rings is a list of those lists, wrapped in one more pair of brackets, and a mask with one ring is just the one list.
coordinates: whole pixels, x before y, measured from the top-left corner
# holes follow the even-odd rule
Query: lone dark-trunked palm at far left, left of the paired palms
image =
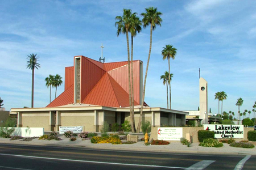
[(36, 57), (36, 54), (30, 54), (30, 56), (27, 56), (27, 68), (32, 70), (32, 91), (31, 91), (31, 108), (34, 108), (34, 74), (35, 69), (40, 68), (40, 64), (38, 63), (38, 58)]

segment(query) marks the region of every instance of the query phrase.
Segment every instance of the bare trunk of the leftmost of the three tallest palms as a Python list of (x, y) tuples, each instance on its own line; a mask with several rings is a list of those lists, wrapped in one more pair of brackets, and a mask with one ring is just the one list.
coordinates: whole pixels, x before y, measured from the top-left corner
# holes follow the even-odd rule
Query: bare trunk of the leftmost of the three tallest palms
[(130, 105), (130, 121), (131, 121), (131, 131), (134, 133), (134, 117), (131, 111), (131, 72), (130, 72), (130, 48), (129, 48), (129, 37), (128, 28), (126, 28), (126, 42), (127, 42), (127, 56), (128, 56), (128, 82), (129, 82), (129, 105)]

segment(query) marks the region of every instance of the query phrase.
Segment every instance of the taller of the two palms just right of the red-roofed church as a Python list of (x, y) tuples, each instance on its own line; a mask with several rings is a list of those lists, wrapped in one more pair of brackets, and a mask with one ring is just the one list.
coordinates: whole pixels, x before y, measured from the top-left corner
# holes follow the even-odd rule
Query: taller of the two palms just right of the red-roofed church
[[(172, 47), (172, 45), (166, 45), (166, 47), (163, 48), (162, 50), (162, 56), (163, 59), (168, 59), (168, 66), (169, 66), (169, 81), (171, 83), (171, 75), (170, 75), (170, 58), (175, 59), (176, 56), (176, 48)], [(170, 88), (170, 109), (171, 109), (171, 84), (169, 86)]]

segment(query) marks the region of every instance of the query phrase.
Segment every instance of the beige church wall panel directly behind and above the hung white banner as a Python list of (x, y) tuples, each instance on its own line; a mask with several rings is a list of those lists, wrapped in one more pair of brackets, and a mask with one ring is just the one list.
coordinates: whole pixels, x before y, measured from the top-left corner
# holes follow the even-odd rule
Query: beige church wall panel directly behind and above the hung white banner
[(83, 126), (83, 131), (95, 131), (94, 112), (76, 111), (61, 112), (61, 126)]

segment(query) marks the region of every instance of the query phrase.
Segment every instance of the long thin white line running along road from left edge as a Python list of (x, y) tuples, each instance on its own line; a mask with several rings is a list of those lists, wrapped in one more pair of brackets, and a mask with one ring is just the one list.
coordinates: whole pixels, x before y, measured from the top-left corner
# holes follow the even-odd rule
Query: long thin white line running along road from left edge
[[(24, 155), (12, 155), (12, 154), (0, 154), (0, 155), (5, 155), (5, 156), (16, 156), (16, 157), (23, 157), (23, 158), (37, 158), (37, 159), (50, 159), (50, 160), (65, 160), (65, 161), (72, 161), (72, 162), (86, 162), (86, 163), (110, 164), (110, 165), (127, 165), (127, 166), (137, 166), (137, 167), (155, 167), (155, 168), (187, 169), (187, 168), (184, 168), (184, 167), (167, 167), (167, 166), (159, 166), (159, 165), (142, 165), (142, 164), (109, 163), (109, 162), (96, 162), (96, 161), (89, 161), (89, 160), (60, 159), (60, 158), (45, 158), (45, 157), (38, 157), (38, 156), (24, 156)], [(21, 170), (22, 170), (22, 169), (21, 169)]]

